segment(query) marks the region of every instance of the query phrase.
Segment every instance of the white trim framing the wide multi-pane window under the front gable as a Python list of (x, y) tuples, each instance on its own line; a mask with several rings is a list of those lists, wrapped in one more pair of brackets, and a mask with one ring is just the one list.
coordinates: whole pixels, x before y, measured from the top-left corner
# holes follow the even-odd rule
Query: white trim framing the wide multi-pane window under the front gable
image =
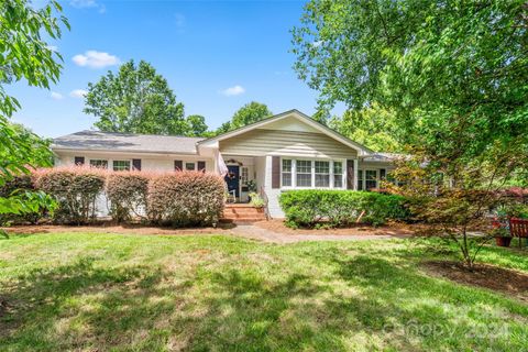
[[(283, 160), (292, 161), (292, 186), (283, 186)], [(297, 161), (311, 162), (311, 186), (297, 186)], [(316, 161), (330, 162), (330, 186), (316, 187)], [(340, 162), (342, 168), (341, 187), (333, 187), (333, 163)], [(280, 189), (346, 189), (346, 160), (344, 158), (310, 158), (297, 156), (280, 156)]]

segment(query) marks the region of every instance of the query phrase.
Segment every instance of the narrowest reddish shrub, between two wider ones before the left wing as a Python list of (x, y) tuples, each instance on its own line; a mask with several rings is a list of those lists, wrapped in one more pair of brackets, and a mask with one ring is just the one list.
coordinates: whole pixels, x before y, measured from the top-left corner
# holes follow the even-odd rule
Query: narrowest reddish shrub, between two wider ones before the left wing
[(110, 201), (110, 216), (118, 222), (146, 213), (146, 197), (151, 174), (120, 172), (109, 174), (106, 193)]

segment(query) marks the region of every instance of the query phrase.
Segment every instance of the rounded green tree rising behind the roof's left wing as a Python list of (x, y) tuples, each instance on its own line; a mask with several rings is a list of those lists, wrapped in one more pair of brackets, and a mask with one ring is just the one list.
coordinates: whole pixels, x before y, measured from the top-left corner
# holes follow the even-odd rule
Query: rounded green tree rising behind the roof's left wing
[(98, 117), (95, 127), (106, 132), (184, 135), (188, 130), (184, 105), (144, 61), (130, 61), (117, 75), (108, 72), (88, 84), (84, 111)]

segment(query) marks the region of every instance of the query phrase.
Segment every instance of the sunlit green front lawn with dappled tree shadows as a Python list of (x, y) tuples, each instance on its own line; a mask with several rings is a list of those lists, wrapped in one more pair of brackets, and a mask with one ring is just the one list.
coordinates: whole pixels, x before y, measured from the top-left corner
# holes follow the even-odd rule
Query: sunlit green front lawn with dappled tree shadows
[[(409, 240), (15, 235), (0, 240), (0, 350), (528, 349), (527, 304), (427, 276), (426, 253)], [(482, 258), (528, 272), (526, 252)]]

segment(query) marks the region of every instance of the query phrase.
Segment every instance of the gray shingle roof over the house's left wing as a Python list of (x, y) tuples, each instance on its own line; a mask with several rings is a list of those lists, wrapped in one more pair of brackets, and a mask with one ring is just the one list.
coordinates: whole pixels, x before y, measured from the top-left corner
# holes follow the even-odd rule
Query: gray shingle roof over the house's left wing
[(202, 138), (80, 131), (53, 140), (52, 150), (197, 154)]

